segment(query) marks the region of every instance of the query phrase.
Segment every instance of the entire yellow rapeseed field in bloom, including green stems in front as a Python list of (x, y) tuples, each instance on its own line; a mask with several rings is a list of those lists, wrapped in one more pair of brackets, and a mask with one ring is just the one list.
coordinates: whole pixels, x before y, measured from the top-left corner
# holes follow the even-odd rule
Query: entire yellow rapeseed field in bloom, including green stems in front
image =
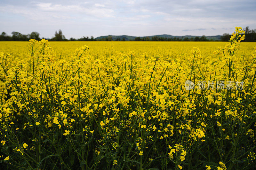
[(0, 42), (0, 168), (253, 169), (256, 43)]

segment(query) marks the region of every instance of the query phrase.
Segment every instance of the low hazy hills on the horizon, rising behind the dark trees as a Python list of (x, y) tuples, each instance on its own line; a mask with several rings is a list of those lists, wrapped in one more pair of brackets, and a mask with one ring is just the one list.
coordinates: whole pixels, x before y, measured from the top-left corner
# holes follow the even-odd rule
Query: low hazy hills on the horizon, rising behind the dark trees
[[(136, 36), (129, 36), (129, 35), (106, 35), (106, 36), (99, 36), (97, 38), (95, 38), (96, 40), (100, 40), (100, 39), (107, 39), (108, 37), (112, 37), (112, 40), (113, 41), (116, 41), (117, 39), (119, 40), (125, 40), (125, 41), (133, 41)], [(143, 37), (143, 36), (141, 36)], [(141, 38), (140, 37), (140, 38)], [(184, 39), (184, 38), (195, 38), (196, 36), (193, 36), (193, 35), (185, 35), (185, 36), (173, 36), (173, 35), (168, 35), (168, 34), (163, 34), (163, 35), (152, 35), (152, 36), (145, 36), (145, 37), (149, 37), (149, 38), (152, 38), (152, 37), (163, 37), (163, 38), (180, 38), (180, 39)], [(197, 37), (201, 37), (201, 36), (197, 36)], [(221, 35), (215, 35), (215, 36), (206, 36), (206, 39), (208, 40), (220, 40), (220, 37)]]

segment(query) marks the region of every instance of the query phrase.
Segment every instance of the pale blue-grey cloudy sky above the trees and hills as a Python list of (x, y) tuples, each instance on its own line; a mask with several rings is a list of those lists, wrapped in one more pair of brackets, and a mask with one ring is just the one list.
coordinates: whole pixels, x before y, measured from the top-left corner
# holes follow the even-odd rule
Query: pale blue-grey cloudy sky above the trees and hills
[(256, 0), (0, 1), (0, 32), (52, 38), (101, 35), (222, 35), (256, 28)]

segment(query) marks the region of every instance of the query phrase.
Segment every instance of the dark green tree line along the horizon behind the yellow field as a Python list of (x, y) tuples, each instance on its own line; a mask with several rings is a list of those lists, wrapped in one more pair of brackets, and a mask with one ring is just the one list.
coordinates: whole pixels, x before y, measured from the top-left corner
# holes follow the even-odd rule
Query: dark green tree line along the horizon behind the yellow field
[[(113, 39), (112, 36), (108, 36), (106, 38), (101, 38), (101, 39), (95, 39), (93, 36), (89, 38), (88, 36), (83, 36), (81, 38), (75, 39), (75, 38), (70, 38), (66, 39), (65, 36), (62, 34), (62, 31), (59, 30), (58, 32), (55, 31), (54, 37), (52, 38), (40, 38), (38, 32), (32, 32), (31, 34), (24, 35), (19, 32), (12, 32), (12, 35), (7, 35), (5, 32), (2, 32), (0, 35), (0, 41), (29, 41), (30, 39), (35, 39), (35, 40), (42, 40), (46, 39), (49, 41), (213, 41), (212, 39), (207, 39), (206, 36), (201, 36), (201, 37), (184, 37), (184, 38), (167, 38), (167, 37), (159, 37), (159, 36), (153, 36), (153, 37), (136, 37), (134, 40), (126, 40), (125, 38), (117, 38)], [(228, 41), (231, 35), (229, 34), (223, 34), (220, 37), (220, 40), (215, 40), (215, 41)], [(245, 39), (244, 41), (247, 42), (253, 42), (256, 39), (256, 30), (252, 29), (250, 30), (249, 27), (245, 28)]]

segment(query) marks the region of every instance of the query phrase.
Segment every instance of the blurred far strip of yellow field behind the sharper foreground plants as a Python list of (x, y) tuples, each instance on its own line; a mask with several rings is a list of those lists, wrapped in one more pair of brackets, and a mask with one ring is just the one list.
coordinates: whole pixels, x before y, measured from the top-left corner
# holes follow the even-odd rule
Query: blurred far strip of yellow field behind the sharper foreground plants
[[(161, 55), (182, 59), (179, 56), (189, 56), (192, 47), (201, 50), (202, 56), (208, 58), (212, 56), (212, 52), (218, 47), (223, 47), (228, 42), (50, 42), (56, 56), (64, 56), (73, 53), (75, 49), (87, 45), (90, 55), (93, 57), (104, 55), (119, 55), (121, 51), (134, 51), (135, 56), (143, 55)], [(253, 47), (256, 42), (241, 42), (240, 50), (237, 56), (250, 56), (253, 53)], [(0, 42), (0, 51), (9, 53), (13, 57), (23, 57), (24, 53), (28, 53), (28, 42)], [(105, 51), (105, 52), (104, 52)], [(185, 58), (186, 59), (186, 58)]]

